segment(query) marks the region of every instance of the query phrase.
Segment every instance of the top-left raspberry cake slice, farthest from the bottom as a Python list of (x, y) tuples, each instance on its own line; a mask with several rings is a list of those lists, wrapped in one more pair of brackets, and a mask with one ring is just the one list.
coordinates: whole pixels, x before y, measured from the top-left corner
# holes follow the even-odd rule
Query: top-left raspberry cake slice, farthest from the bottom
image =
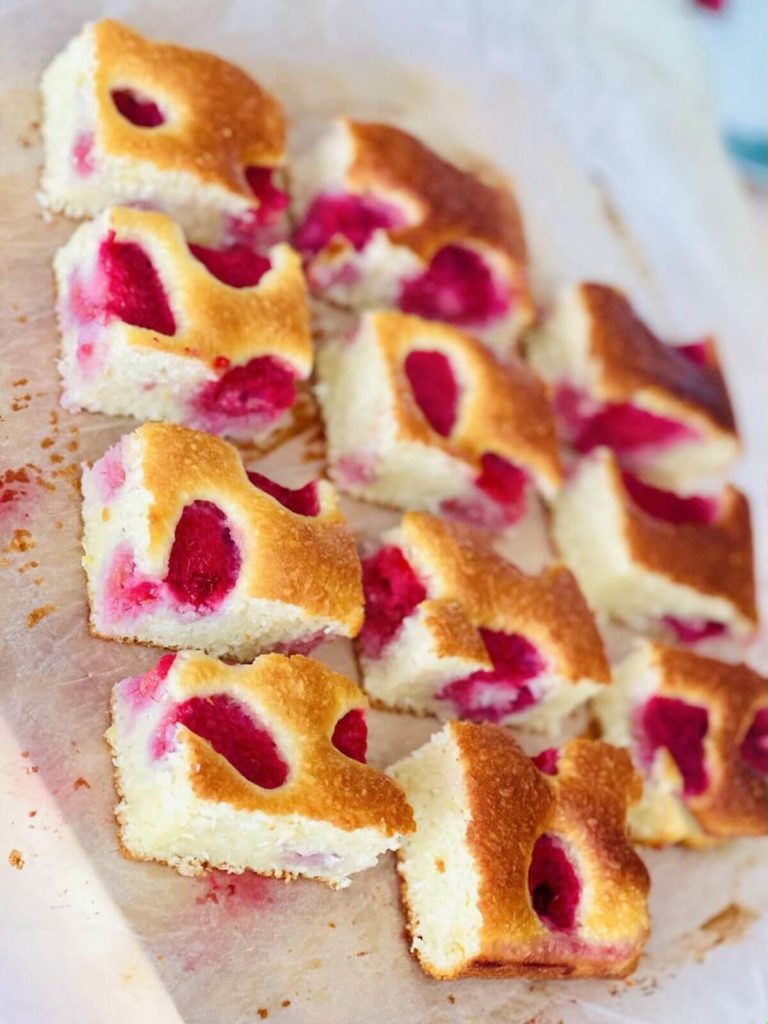
[(239, 68), (106, 19), (83, 28), (41, 88), (45, 206), (152, 207), (206, 246), (286, 236), (283, 111)]

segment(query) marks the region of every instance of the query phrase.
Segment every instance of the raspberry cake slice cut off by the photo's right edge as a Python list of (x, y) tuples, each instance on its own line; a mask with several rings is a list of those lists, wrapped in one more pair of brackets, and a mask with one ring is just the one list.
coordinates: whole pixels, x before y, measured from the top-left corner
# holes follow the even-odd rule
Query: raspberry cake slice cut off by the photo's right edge
[(629, 815), (651, 846), (706, 846), (768, 833), (768, 679), (651, 641), (593, 706), (603, 737), (643, 775)]

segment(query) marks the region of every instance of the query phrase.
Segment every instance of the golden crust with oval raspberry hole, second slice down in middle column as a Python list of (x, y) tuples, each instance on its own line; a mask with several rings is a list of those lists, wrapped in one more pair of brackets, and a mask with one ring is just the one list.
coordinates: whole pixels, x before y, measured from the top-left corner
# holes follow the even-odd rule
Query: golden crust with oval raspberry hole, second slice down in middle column
[[(441, 449), (473, 469), (494, 453), (530, 469), (545, 489), (562, 481), (557, 435), (544, 382), (517, 361), (502, 362), (474, 338), (435, 321), (397, 311), (370, 313), (389, 374), (398, 435)], [(463, 393), (450, 437), (438, 434), (419, 409), (404, 370), (412, 351), (435, 350), (450, 360)]]

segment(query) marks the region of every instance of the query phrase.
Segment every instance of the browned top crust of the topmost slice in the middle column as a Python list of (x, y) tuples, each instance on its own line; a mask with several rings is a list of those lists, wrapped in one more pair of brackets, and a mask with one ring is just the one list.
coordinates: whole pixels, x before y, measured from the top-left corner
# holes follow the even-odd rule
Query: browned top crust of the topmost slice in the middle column
[(392, 125), (349, 119), (342, 124), (352, 143), (350, 186), (399, 194), (414, 212), (413, 223), (388, 232), (393, 243), (412, 249), (425, 262), (455, 243), (487, 246), (504, 257), (508, 272), (524, 286), (530, 301), (522, 221), (508, 188), (485, 184)]

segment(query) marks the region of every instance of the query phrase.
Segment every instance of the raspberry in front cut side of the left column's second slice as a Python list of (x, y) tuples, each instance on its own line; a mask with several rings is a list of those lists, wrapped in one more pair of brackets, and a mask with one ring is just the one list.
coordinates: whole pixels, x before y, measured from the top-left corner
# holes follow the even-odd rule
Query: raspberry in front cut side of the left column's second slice
[(296, 400), (295, 378), (293, 368), (282, 359), (257, 355), (227, 370), (217, 381), (209, 381), (197, 403), (209, 414), (273, 420)]

